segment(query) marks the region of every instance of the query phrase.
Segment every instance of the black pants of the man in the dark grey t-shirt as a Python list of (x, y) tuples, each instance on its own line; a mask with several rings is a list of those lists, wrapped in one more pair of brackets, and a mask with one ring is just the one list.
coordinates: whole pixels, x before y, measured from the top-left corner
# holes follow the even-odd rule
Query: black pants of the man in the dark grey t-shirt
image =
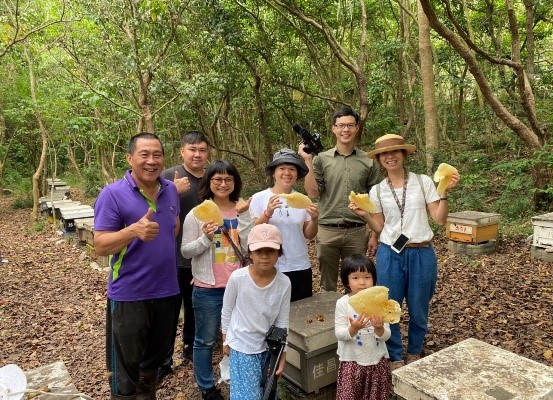
[(194, 345), (194, 334), (196, 325), (194, 323), (194, 308), (192, 308), (192, 268), (180, 267), (178, 270), (180, 298), (179, 304), (175, 309), (175, 317), (173, 320), (173, 337), (169, 344), (167, 357), (163, 362), (164, 366), (170, 367), (173, 365), (173, 352), (175, 349), (175, 339), (177, 337), (177, 329), (179, 325), (180, 306), (184, 308), (184, 322), (182, 326), (182, 344), (185, 346)]

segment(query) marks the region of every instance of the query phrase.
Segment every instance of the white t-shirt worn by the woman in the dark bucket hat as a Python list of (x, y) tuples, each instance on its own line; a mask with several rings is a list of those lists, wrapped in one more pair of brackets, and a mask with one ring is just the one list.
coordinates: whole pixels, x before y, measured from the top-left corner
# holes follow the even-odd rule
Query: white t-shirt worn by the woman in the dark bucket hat
[[(263, 214), (269, 199), (274, 194), (271, 189), (265, 189), (252, 196), (250, 212), (254, 218), (259, 218)], [(303, 236), (303, 225), (311, 221), (311, 216), (303, 209), (288, 207), (286, 199), (280, 200), (281, 208), (276, 209), (269, 220), (269, 223), (276, 226), (282, 235), (282, 256), (279, 257), (276, 268), (280, 272), (311, 268), (307, 241)]]

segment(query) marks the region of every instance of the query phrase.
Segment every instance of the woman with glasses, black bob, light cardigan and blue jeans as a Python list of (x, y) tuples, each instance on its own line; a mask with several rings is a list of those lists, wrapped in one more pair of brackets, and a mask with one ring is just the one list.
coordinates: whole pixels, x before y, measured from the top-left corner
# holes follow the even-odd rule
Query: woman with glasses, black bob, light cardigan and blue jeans
[[(181, 253), (192, 259), (192, 306), (196, 319), (194, 377), (202, 399), (220, 400), (213, 377), (213, 347), (220, 334), (223, 296), (230, 274), (240, 268), (230, 240), (246, 251), (253, 219), (249, 203), (240, 200), (242, 179), (236, 167), (224, 160), (209, 165), (198, 188), (199, 200), (213, 200), (223, 216), (223, 226), (203, 223), (192, 211), (183, 223)], [(223, 230), (226, 233), (223, 233)], [(227, 236), (228, 234), (228, 236)]]

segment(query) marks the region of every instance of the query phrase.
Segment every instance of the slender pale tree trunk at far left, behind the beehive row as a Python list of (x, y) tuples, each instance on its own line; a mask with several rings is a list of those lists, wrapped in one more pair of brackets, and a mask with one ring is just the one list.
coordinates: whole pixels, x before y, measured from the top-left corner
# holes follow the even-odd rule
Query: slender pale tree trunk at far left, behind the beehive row
[(42, 170), (44, 169), (44, 165), (46, 164), (46, 153), (48, 150), (48, 131), (46, 129), (46, 126), (44, 125), (42, 114), (40, 113), (40, 110), (38, 108), (38, 101), (36, 97), (36, 79), (35, 79), (35, 73), (33, 70), (33, 60), (30, 54), (29, 47), (26, 43), (23, 46), (23, 49), (25, 53), (25, 58), (27, 59), (27, 65), (29, 68), (29, 86), (31, 91), (31, 102), (34, 108), (35, 118), (38, 122), (40, 139), (42, 141), (40, 161), (37, 165), (37, 168), (32, 178), (33, 179), (33, 211), (31, 214), (31, 218), (33, 221), (37, 221), (38, 220), (38, 199), (40, 198), (40, 177), (42, 175)]

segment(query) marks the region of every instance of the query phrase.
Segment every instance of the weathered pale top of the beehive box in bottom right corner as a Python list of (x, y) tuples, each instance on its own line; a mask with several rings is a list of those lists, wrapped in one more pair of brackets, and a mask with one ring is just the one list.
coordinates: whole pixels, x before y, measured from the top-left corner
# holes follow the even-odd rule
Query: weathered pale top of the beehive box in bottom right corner
[(553, 368), (469, 338), (392, 372), (401, 399), (551, 400)]

